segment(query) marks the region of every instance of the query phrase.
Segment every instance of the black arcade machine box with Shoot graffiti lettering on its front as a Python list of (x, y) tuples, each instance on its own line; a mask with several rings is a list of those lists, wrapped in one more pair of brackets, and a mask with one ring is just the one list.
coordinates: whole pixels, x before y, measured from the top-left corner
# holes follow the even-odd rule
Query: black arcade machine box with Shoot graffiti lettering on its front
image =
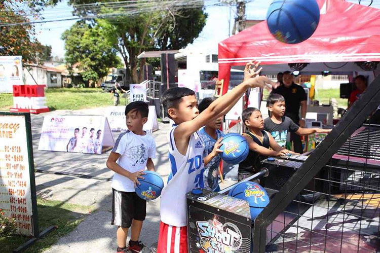
[(205, 189), (193, 190), (186, 198), (189, 252), (250, 252), (247, 201)]

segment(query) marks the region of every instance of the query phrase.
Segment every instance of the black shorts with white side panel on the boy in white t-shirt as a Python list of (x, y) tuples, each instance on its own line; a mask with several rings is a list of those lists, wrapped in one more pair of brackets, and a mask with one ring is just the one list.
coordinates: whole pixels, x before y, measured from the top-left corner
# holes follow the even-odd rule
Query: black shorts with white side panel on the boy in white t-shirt
[(132, 220), (143, 221), (146, 216), (146, 201), (135, 192), (112, 189), (112, 225), (130, 228)]

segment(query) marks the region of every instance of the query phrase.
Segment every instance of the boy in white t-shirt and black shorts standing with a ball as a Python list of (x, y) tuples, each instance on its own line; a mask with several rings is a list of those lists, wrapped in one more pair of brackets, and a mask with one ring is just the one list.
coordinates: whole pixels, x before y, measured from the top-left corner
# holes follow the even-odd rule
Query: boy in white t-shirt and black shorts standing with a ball
[[(115, 171), (112, 178), (112, 225), (118, 226), (117, 252), (141, 252), (139, 241), (142, 222), (146, 215), (146, 201), (135, 193), (138, 178), (144, 178), (145, 166), (155, 170), (152, 158), (156, 158), (153, 137), (142, 130), (147, 121), (148, 105), (143, 101), (129, 103), (125, 109), (128, 131), (119, 135), (107, 160), (107, 167)], [(127, 247), (128, 229), (131, 240)]]

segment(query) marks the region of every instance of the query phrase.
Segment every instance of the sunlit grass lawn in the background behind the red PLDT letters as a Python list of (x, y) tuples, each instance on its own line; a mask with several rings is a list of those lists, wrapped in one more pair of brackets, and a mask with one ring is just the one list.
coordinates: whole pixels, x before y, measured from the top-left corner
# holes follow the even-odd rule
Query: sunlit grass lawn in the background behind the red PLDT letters
[[(113, 97), (101, 88), (49, 88), (46, 89), (46, 103), (50, 110), (78, 110), (113, 105)], [(12, 94), (0, 94), (0, 110), (9, 111), (13, 104)], [(120, 96), (120, 105), (125, 98)]]

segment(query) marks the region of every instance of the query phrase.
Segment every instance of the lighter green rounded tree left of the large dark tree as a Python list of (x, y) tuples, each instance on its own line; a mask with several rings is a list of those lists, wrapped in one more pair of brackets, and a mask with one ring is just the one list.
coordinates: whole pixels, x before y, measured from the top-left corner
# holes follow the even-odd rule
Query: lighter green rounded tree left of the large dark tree
[(66, 62), (71, 67), (79, 63), (86, 82), (97, 82), (107, 76), (110, 67), (121, 64), (116, 50), (104, 34), (100, 26), (91, 27), (83, 21), (78, 21), (62, 34)]

